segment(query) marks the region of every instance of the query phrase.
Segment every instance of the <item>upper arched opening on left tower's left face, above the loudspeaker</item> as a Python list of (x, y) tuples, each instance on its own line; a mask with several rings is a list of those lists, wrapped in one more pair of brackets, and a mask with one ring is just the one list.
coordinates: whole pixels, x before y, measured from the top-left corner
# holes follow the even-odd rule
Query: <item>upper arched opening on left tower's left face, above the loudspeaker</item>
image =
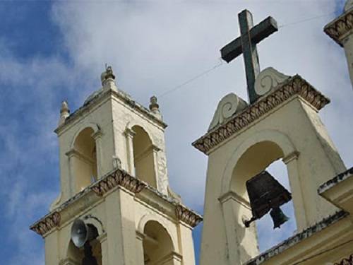
[(71, 145), (68, 155), (71, 191), (73, 194), (82, 191), (98, 178), (97, 144), (100, 131), (88, 126), (81, 129)]

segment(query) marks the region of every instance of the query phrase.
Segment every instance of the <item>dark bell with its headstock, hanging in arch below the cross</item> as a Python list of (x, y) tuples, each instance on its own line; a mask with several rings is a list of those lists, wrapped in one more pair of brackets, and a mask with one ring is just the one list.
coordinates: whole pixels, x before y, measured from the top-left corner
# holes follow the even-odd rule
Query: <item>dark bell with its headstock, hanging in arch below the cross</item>
[(273, 229), (280, 228), (280, 225), (289, 220), (280, 209), (280, 206), (290, 201), (292, 194), (280, 182), (277, 182), (269, 172), (263, 171), (249, 179), (246, 182), (246, 189), (253, 214), (250, 220), (244, 221), (244, 225), (247, 228), (249, 228), (251, 222), (260, 219), (269, 211), (273, 219)]

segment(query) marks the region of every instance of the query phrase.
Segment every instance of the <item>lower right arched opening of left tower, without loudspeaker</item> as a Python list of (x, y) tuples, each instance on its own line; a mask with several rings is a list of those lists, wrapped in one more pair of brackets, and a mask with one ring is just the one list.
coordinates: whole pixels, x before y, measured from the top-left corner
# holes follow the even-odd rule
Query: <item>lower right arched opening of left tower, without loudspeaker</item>
[(173, 265), (175, 254), (172, 238), (157, 221), (150, 220), (143, 230), (143, 259), (145, 265)]

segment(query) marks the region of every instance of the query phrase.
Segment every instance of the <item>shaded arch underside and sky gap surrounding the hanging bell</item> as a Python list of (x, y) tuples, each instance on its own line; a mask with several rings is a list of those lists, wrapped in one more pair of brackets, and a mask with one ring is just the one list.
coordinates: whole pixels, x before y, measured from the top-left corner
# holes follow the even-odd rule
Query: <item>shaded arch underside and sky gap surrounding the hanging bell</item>
[[(291, 192), (287, 166), (281, 160), (283, 156), (284, 153), (280, 146), (272, 141), (256, 143), (248, 148), (234, 167), (231, 181), (232, 192), (249, 203), (246, 181), (263, 170), (270, 172), (282, 186)], [(284, 223), (280, 229), (273, 230), (273, 220), (269, 214), (266, 214), (260, 220), (256, 220), (258, 247), (261, 252), (282, 242), (297, 230), (293, 202), (289, 201), (281, 209), (289, 217), (289, 221)]]

